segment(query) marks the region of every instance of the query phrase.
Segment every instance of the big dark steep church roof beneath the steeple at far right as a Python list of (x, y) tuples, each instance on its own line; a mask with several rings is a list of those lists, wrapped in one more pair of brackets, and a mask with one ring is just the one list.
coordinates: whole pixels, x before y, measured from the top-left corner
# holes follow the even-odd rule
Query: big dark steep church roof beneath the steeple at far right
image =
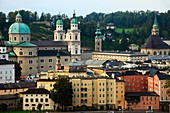
[(142, 48), (170, 49), (170, 46), (163, 42), (159, 35), (150, 35)]

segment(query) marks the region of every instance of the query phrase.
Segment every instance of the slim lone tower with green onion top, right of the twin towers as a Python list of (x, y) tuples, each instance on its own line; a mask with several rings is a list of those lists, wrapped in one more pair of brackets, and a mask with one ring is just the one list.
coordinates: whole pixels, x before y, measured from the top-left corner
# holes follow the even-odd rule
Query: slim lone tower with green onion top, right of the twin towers
[(100, 24), (98, 22), (97, 24), (97, 29), (95, 32), (95, 51), (102, 51), (102, 36), (101, 36), (101, 31), (100, 31)]

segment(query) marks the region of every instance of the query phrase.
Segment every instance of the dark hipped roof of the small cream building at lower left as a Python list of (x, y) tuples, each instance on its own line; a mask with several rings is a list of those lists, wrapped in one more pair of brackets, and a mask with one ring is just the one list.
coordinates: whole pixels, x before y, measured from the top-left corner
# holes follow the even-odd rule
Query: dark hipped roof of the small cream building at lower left
[(50, 94), (50, 92), (46, 89), (39, 88), (39, 89), (28, 89), (25, 92), (22, 92), (21, 94)]

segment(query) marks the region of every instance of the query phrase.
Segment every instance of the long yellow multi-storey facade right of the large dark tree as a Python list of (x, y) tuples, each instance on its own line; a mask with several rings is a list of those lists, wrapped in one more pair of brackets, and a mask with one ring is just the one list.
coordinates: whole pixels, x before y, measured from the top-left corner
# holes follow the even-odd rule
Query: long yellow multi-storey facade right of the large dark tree
[(116, 106), (116, 80), (101, 78), (71, 78), (73, 106), (105, 110)]

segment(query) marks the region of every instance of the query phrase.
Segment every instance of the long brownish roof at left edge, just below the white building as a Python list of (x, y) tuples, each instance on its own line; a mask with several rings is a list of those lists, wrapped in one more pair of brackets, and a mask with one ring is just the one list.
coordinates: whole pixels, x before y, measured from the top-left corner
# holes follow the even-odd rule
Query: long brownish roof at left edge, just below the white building
[(0, 84), (0, 90), (4, 90), (4, 89), (33, 88), (33, 87), (36, 87), (36, 83), (35, 82), (19, 82), (19, 83)]

